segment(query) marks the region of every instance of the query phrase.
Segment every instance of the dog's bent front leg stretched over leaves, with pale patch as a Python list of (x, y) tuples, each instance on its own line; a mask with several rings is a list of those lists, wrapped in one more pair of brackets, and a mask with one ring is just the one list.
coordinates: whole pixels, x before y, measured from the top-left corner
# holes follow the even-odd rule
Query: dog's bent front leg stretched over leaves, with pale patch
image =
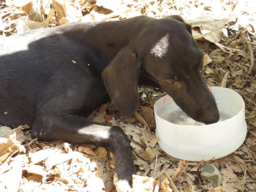
[(116, 186), (122, 192), (132, 191), (132, 150), (130, 141), (119, 127), (99, 124), (82, 116), (44, 114), (37, 116), (32, 136), (42, 141), (62, 140), (106, 147), (115, 156)]

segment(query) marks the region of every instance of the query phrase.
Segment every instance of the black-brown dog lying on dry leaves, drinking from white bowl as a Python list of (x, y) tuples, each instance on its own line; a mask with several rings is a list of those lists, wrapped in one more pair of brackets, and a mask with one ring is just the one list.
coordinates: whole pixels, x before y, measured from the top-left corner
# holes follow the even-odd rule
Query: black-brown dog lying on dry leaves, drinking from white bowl
[(3, 38), (0, 124), (28, 124), (32, 136), (43, 141), (104, 146), (115, 155), (119, 181), (131, 185), (126, 135), (84, 116), (110, 98), (131, 116), (139, 102), (137, 86), (143, 84), (162, 88), (195, 120), (217, 122), (216, 103), (202, 77), (203, 54), (191, 33), (180, 16), (139, 16)]

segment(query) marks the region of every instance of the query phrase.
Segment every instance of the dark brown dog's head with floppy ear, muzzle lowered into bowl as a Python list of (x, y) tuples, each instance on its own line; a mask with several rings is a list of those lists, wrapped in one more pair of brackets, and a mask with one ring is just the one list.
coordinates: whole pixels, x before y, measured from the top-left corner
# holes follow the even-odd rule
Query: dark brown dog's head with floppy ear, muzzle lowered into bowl
[(180, 16), (149, 21), (102, 72), (106, 89), (124, 115), (139, 102), (139, 78), (170, 95), (193, 119), (211, 124), (219, 119), (214, 97), (202, 74), (203, 53), (191, 26)]

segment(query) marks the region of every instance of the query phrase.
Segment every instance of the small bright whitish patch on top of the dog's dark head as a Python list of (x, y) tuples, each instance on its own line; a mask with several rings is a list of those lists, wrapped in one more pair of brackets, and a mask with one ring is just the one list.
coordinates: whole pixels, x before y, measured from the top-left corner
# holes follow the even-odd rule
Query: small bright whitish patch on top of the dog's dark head
[(169, 34), (163, 36), (154, 47), (150, 50), (150, 54), (158, 58), (162, 58), (168, 51), (169, 47)]

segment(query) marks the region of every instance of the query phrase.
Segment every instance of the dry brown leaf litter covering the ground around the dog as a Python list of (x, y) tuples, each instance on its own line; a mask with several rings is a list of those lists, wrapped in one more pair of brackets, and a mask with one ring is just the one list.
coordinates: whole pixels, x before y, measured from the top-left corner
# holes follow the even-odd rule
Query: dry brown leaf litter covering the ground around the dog
[[(3, 36), (76, 21), (181, 15), (192, 25), (193, 36), (205, 53), (207, 85), (231, 88), (244, 98), (248, 127), (244, 144), (229, 156), (207, 162), (169, 156), (160, 149), (154, 134), (153, 105), (165, 93), (144, 86), (139, 88), (140, 105), (133, 117), (122, 116), (108, 103), (87, 118), (118, 125), (130, 138), (137, 173), (133, 178), (136, 192), (255, 192), (254, 9), (253, 0), (5, 0), (0, 2), (0, 40)], [(207, 163), (220, 170), (222, 185), (214, 188), (202, 180), (200, 171)], [(114, 192), (114, 167), (113, 155), (104, 148), (61, 141), (38, 142), (32, 139), (26, 125), (15, 130), (0, 127), (1, 192)]]

